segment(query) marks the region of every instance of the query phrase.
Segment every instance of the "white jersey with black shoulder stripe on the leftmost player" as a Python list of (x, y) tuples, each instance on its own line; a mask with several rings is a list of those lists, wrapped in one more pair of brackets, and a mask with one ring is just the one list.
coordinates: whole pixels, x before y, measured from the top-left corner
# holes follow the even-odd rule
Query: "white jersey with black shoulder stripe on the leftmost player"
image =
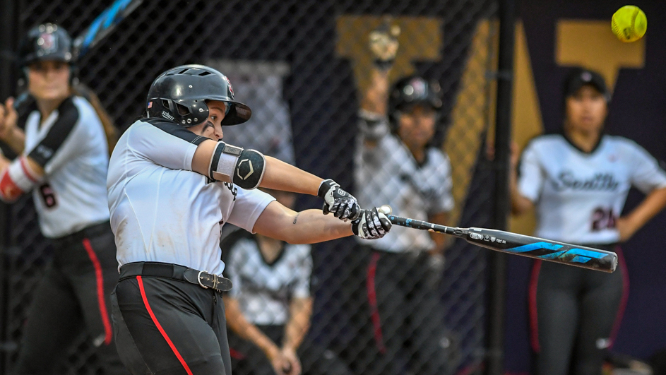
[(83, 97), (69, 97), (40, 126), (35, 108), (25, 122), (25, 155), (44, 168), (32, 191), (45, 237), (63, 237), (109, 220), (104, 127)]

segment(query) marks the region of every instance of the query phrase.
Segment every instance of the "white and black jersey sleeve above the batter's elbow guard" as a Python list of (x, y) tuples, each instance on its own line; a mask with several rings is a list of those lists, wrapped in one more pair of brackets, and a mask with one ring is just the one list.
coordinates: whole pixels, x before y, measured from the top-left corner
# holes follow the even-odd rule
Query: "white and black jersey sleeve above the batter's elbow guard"
[(128, 131), (129, 146), (135, 153), (156, 165), (188, 171), (192, 170), (196, 147), (208, 139), (159, 119), (139, 121)]

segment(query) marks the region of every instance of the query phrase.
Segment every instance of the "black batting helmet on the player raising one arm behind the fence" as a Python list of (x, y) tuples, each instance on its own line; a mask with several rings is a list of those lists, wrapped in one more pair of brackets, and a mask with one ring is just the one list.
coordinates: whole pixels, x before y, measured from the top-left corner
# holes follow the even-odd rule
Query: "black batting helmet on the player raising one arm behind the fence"
[(426, 81), (420, 76), (400, 79), (388, 95), (388, 119), (393, 130), (398, 128), (398, 116), (415, 105), (427, 105), (435, 111), (441, 108), (441, 88), (436, 81)]

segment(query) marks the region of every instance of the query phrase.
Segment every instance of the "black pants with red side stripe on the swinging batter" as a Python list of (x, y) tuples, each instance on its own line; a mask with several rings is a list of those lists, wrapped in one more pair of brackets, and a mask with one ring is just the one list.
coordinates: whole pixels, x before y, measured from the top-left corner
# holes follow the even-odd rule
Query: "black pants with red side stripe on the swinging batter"
[(118, 282), (112, 319), (118, 353), (133, 375), (231, 375), (220, 292), (134, 276)]

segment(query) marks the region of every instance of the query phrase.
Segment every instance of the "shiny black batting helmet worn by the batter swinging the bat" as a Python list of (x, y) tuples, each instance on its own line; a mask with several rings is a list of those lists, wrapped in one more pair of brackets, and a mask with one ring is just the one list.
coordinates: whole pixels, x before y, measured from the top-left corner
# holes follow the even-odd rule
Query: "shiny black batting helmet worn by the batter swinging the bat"
[(177, 66), (155, 78), (148, 90), (146, 111), (148, 117), (163, 117), (189, 128), (208, 119), (205, 100), (227, 103), (222, 125), (242, 124), (252, 114), (248, 106), (234, 100), (229, 78), (209, 66), (194, 64)]

